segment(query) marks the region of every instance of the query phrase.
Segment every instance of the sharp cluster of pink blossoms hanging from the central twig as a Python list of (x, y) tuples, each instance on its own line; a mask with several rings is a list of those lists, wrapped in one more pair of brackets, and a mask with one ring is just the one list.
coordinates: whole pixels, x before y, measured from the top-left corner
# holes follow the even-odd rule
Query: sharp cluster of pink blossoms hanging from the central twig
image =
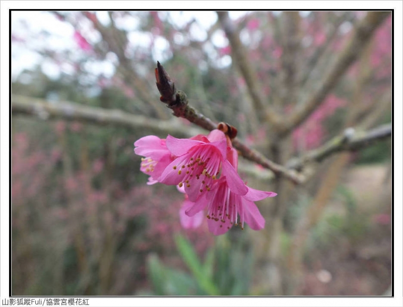
[(176, 185), (185, 193), (179, 212), (184, 228), (195, 228), (207, 211), (211, 232), (220, 235), (233, 225), (242, 229), (264, 227), (254, 201), (273, 197), (274, 192), (249, 188), (240, 178), (238, 154), (220, 130), (190, 139), (165, 139), (147, 136), (135, 142), (135, 153), (144, 156), (140, 170), (148, 175), (149, 185), (156, 182)]

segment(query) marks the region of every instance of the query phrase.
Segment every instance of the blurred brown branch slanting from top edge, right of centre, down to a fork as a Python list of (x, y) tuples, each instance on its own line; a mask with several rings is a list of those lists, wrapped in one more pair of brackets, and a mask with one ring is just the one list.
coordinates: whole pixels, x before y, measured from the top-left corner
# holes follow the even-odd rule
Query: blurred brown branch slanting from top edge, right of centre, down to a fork
[(228, 12), (217, 12), (217, 15), (228, 40), (230, 41), (234, 63), (238, 66), (243, 78), (245, 79), (255, 109), (264, 113), (267, 122), (272, 125), (279, 125), (281, 123), (279, 115), (267, 108), (267, 105), (261, 96), (262, 91), (258, 86), (259, 82), (257, 80), (257, 74), (249, 64), (246, 49), (239, 39), (239, 33), (231, 22)]

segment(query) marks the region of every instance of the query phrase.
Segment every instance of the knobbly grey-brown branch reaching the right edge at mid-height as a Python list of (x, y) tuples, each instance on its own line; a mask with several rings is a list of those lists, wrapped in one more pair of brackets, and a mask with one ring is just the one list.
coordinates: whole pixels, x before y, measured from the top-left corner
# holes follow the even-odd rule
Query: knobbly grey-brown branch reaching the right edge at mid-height
[(374, 128), (368, 132), (356, 132), (354, 128), (348, 128), (340, 136), (334, 137), (323, 146), (306, 153), (301, 158), (295, 158), (287, 163), (290, 169), (299, 169), (308, 162), (320, 162), (328, 156), (340, 151), (352, 151), (367, 147), (375, 141), (390, 137), (391, 124)]

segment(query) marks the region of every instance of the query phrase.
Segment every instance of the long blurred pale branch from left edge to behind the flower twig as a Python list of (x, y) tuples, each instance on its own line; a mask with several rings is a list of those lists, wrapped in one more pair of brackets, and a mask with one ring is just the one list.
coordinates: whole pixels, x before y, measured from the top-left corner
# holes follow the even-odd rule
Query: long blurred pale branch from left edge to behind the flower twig
[(12, 95), (12, 113), (35, 115), (41, 119), (61, 118), (77, 120), (101, 126), (126, 127), (130, 129), (151, 130), (159, 134), (191, 137), (201, 131), (192, 127), (183, 127), (176, 120), (158, 120), (149, 117), (132, 115), (117, 109), (104, 109), (84, 106), (73, 102), (52, 103), (43, 99)]

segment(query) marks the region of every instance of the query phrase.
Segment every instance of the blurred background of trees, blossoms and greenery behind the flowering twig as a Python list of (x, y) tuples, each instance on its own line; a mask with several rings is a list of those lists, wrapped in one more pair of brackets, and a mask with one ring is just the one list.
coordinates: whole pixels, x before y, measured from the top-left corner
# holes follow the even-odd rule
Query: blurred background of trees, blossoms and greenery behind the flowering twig
[[(263, 230), (219, 237), (182, 229), (183, 195), (147, 186), (133, 152), (146, 135), (206, 133), (159, 102), (157, 60), (282, 165), (390, 123), (391, 16), (369, 14), (13, 11), (12, 294), (390, 293), (390, 138), (303, 163), (301, 185), (240, 158), (248, 186), (279, 195), (257, 202)], [(281, 133), (262, 116), (294, 118), (312, 95)]]

